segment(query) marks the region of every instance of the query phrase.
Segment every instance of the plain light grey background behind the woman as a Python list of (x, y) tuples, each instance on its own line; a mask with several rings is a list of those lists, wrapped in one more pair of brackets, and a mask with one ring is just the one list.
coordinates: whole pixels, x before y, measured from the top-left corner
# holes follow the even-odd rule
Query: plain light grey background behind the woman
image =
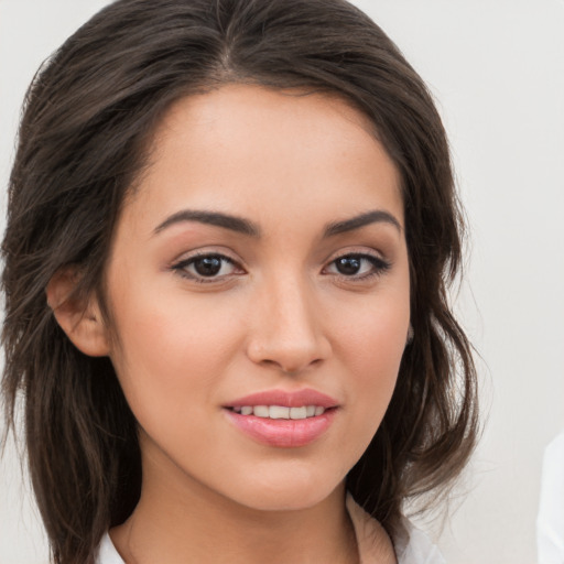
[[(2, 208), (25, 87), (105, 3), (0, 0)], [(457, 307), (482, 357), (485, 431), (442, 533), (423, 527), (449, 564), (531, 564), (542, 451), (564, 426), (564, 1), (355, 3), (436, 96), (471, 225)], [(0, 562), (46, 562), (12, 447), (0, 473)]]

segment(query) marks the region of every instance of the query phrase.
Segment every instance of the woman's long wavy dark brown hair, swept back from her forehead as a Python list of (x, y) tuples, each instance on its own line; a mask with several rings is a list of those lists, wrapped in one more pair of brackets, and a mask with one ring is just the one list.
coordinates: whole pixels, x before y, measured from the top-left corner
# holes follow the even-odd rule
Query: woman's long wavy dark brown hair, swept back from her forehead
[(471, 453), (476, 375), (447, 295), (463, 224), (440, 116), (399, 50), (344, 0), (119, 0), (68, 39), (28, 91), (2, 243), (7, 417), (13, 426), (21, 391), (57, 564), (93, 562), (104, 532), (133, 510), (141, 465), (110, 360), (70, 344), (45, 288), (74, 264), (77, 292), (104, 297), (120, 206), (152, 131), (174, 100), (227, 83), (344, 97), (401, 173), (414, 338), (348, 489), (393, 533), (402, 503), (444, 490)]

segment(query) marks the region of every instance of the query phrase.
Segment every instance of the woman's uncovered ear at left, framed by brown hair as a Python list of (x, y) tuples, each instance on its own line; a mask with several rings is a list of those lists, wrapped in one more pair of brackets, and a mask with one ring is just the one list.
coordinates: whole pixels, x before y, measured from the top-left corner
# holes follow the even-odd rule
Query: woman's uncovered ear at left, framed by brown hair
[(76, 268), (67, 267), (56, 272), (45, 291), (47, 304), (58, 325), (78, 350), (91, 357), (107, 356), (108, 329), (102, 321), (98, 300), (94, 296), (82, 299), (73, 295), (79, 280)]

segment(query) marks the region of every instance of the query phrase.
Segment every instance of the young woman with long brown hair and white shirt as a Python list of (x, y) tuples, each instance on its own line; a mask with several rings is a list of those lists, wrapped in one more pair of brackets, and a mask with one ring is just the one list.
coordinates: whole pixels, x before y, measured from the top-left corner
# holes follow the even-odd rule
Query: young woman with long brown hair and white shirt
[(420, 77), (343, 0), (119, 0), (35, 77), (3, 391), (57, 564), (438, 563), (476, 434)]

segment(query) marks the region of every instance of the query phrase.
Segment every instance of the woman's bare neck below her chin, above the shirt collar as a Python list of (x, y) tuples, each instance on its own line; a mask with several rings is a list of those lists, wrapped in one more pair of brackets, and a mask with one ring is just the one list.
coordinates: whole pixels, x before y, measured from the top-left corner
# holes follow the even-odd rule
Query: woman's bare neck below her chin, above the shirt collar
[(153, 479), (143, 465), (140, 501), (110, 533), (127, 564), (358, 563), (344, 484), (312, 507), (263, 511), (186, 476)]

